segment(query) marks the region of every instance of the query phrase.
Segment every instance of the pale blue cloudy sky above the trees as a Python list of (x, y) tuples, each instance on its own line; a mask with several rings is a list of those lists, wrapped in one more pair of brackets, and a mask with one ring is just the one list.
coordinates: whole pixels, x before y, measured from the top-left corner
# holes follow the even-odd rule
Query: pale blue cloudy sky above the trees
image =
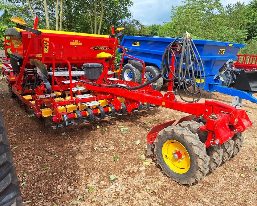
[[(138, 19), (142, 24), (163, 24), (163, 21), (170, 21), (171, 6), (180, 6), (183, 3), (177, 0), (132, 0), (134, 5), (130, 7), (133, 18)], [(236, 2), (249, 2), (249, 0), (223, 0), (223, 5)]]

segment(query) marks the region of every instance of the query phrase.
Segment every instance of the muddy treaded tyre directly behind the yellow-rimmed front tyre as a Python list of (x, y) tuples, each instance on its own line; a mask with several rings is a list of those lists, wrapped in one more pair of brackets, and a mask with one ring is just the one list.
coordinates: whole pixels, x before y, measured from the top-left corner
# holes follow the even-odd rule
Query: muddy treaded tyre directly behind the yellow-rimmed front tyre
[[(191, 120), (191, 121), (181, 122), (180, 124), (177, 125), (177, 127), (183, 127), (183, 128), (187, 127), (191, 132), (198, 134), (200, 141), (202, 143), (205, 143), (208, 133), (205, 131), (201, 131), (199, 129), (199, 127), (203, 125), (204, 125), (203, 122), (197, 123)], [(221, 165), (223, 150), (221, 149), (221, 145), (210, 146), (206, 148), (206, 153), (210, 157), (209, 166), (208, 166), (209, 167), (208, 174), (210, 174)]]

